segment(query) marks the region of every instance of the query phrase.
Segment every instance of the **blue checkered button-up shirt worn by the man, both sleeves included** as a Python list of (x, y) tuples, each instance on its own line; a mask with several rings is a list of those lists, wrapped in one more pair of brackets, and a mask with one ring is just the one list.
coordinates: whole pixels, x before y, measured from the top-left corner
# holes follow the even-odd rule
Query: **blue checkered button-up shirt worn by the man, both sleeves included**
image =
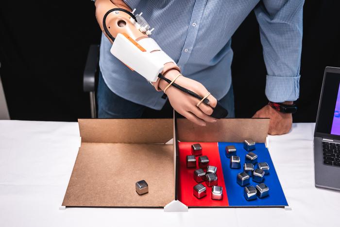
[[(151, 37), (181, 68), (217, 99), (231, 85), (231, 36), (254, 10), (267, 68), (266, 96), (272, 102), (299, 97), (304, 0), (125, 0), (155, 30)], [(102, 35), (100, 69), (107, 86), (134, 103), (161, 109), (166, 99), (144, 77), (110, 53)], [(245, 56), (246, 57), (246, 56)], [(236, 88), (237, 89), (237, 88)], [(163, 97), (162, 97), (163, 96)]]

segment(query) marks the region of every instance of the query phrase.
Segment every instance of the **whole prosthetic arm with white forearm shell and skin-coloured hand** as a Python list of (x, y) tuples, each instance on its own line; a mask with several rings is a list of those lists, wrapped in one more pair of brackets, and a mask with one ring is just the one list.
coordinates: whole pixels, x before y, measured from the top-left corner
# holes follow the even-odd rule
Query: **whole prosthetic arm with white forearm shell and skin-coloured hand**
[(177, 112), (200, 125), (226, 117), (228, 112), (206, 88), (180, 74), (175, 62), (148, 36), (153, 29), (142, 13), (118, 8), (111, 0), (96, 0), (95, 4), (98, 23), (113, 42), (111, 53), (156, 90), (163, 90)]

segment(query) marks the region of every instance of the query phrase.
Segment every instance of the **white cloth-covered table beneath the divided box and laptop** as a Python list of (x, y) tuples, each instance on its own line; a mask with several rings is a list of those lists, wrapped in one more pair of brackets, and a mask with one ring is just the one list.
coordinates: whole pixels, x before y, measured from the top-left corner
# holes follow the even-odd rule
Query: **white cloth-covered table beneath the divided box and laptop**
[[(80, 143), (77, 122), (0, 121), (0, 226), (340, 226), (340, 192), (314, 187), (314, 123), (270, 137), (277, 174), (292, 210), (282, 208), (59, 210)], [(212, 220), (209, 217), (215, 216)], [(252, 222), (250, 222), (252, 221)], [(161, 224), (161, 225), (160, 225)]]

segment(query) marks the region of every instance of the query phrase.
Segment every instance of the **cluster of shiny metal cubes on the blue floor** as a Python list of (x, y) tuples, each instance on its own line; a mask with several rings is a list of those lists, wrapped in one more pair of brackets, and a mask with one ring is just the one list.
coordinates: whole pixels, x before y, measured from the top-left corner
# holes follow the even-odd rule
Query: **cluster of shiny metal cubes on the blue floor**
[[(267, 185), (262, 183), (265, 175), (269, 174), (269, 165), (267, 162), (257, 163), (257, 155), (251, 151), (255, 150), (255, 142), (253, 140), (244, 140), (243, 147), (249, 153), (245, 156), (245, 163), (243, 164), (243, 172), (239, 173), (236, 177), (236, 182), (240, 186), (245, 186), (244, 197), (246, 200), (254, 200), (257, 197), (264, 198), (269, 195), (269, 188)], [(240, 169), (241, 162), (240, 157), (236, 155), (235, 146), (225, 147), (225, 156), (230, 158), (230, 168)], [(257, 168), (254, 166), (257, 163)], [(250, 184), (250, 177), (253, 178), (254, 182), (257, 182), (254, 186), (247, 186)]]

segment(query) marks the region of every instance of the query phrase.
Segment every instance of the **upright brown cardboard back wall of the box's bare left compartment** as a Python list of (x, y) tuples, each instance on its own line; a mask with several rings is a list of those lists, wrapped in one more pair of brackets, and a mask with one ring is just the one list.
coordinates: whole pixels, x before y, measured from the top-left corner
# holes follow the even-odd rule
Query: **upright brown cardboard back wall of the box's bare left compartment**
[(82, 142), (166, 143), (173, 119), (79, 119)]

